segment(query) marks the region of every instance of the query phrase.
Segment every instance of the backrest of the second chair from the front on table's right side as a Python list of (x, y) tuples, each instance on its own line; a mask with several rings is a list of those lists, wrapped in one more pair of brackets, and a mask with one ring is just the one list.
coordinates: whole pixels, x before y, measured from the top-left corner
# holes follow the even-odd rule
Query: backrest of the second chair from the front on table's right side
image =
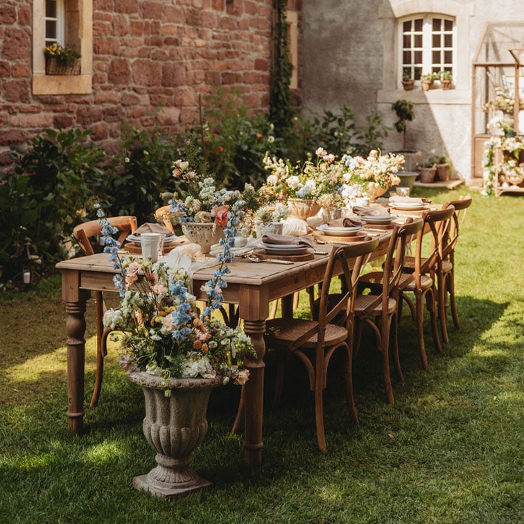
[[(399, 281), (402, 276), (406, 245), (408, 244), (408, 240), (417, 236), (421, 231), (423, 223), (422, 218), (408, 217), (403, 224), (394, 225), (390, 243), (387, 245), (385, 262), (383, 264), (384, 270), (376, 274), (382, 284), (381, 290), (376, 293), (376, 298), (367, 304), (363, 315), (371, 313), (379, 306), (382, 311), (387, 311), (389, 299), (398, 298)], [(369, 277), (372, 275), (373, 273), (369, 274)], [(372, 279), (370, 281), (372, 281)], [(374, 288), (376, 288), (376, 286), (378, 286), (378, 281), (376, 281)]]

